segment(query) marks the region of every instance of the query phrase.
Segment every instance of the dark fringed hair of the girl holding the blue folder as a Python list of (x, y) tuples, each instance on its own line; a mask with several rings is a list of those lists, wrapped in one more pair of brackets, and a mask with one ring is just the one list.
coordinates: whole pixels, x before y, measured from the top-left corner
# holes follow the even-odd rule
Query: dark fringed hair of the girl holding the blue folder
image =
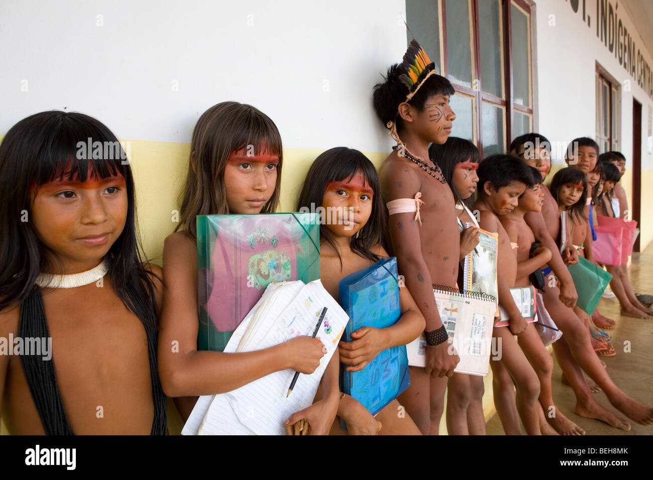
[[(315, 212), (322, 205), (322, 199), (330, 182), (348, 182), (359, 170), (362, 171), (365, 182), (374, 191), (372, 212), (367, 223), (358, 231), (358, 235), (351, 237), (349, 247), (360, 257), (376, 262), (380, 257), (372, 253), (372, 247), (383, 242), (386, 225), (385, 205), (381, 198), (381, 184), (376, 168), (363, 153), (347, 147), (330, 148), (321, 153), (306, 174), (296, 210), (299, 212), (304, 208), (304, 211), (308, 209), (309, 212)], [(338, 252), (334, 235), (324, 221), (320, 221), (320, 240), (325, 240)], [(340, 264), (342, 266), (342, 257), (340, 257)]]

